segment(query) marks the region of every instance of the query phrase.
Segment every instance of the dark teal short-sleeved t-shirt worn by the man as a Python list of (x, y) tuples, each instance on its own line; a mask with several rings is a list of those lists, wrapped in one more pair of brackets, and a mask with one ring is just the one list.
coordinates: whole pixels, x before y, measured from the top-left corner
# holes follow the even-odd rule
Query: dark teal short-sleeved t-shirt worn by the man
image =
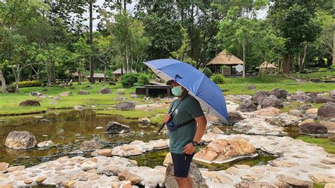
[[(182, 100), (182, 99), (180, 99)], [(171, 102), (170, 109), (173, 111), (180, 102), (179, 99)], [(172, 107), (172, 108), (171, 108)], [(192, 118), (201, 117), (204, 112), (201, 110), (201, 106), (192, 95), (187, 94), (180, 102), (175, 112), (172, 114), (173, 124), (182, 124), (189, 121)], [(196, 122), (187, 124), (184, 127), (180, 127), (175, 131), (170, 131), (170, 152), (182, 154), (184, 146), (190, 143), (194, 139), (196, 133)]]

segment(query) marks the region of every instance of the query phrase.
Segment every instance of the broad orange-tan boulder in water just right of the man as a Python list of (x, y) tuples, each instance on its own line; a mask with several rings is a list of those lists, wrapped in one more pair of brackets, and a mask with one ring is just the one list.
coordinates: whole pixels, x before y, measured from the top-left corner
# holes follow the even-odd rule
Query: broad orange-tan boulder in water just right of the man
[(194, 155), (195, 160), (206, 163), (225, 163), (237, 158), (255, 156), (256, 148), (245, 139), (217, 139)]

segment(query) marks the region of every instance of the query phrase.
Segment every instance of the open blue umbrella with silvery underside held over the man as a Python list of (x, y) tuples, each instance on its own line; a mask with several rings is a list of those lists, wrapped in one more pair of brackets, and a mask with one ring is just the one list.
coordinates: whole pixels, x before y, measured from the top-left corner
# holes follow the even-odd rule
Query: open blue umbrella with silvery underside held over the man
[(165, 81), (175, 80), (189, 90), (203, 110), (228, 124), (228, 112), (222, 90), (194, 66), (176, 59), (157, 59), (144, 64)]

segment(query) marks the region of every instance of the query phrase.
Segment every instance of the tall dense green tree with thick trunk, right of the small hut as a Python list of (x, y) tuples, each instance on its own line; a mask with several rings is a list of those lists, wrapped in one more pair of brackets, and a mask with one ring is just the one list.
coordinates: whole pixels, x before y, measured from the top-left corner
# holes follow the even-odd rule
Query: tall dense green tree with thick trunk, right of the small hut
[[(286, 52), (281, 62), (281, 73), (293, 71), (293, 61), (302, 49), (304, 57), (310, 42), (317, 39), (321, 28), (315, 22), (315, 1), (274, 1), (269, 8), (269, 19), (278, 35), (286, 39)], [(303, 59), (302, 61), (304, 61)]]

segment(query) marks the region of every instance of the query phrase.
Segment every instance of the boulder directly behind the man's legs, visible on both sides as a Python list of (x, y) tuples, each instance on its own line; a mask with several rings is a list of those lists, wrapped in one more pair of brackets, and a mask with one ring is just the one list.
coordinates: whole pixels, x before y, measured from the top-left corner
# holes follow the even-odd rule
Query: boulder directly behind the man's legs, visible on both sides
[[(208, 187), (204, 177), (202, 177), (201, 175), (200, 170), (196, 168), (196, 165), (194, 165), (194, 163), (191, 163), (191, 167), (189, 168), (189, 175), (192, 177), (192, 187), (194, 188)], [(169, 165), (166, 168), (164, 182), (165, 182), (165, 187), (169, 187), (169, 188), (178, 187), (178, 184), (176, 182), (175, 175), (173, 172), (172, 163), (169, 163)]]

